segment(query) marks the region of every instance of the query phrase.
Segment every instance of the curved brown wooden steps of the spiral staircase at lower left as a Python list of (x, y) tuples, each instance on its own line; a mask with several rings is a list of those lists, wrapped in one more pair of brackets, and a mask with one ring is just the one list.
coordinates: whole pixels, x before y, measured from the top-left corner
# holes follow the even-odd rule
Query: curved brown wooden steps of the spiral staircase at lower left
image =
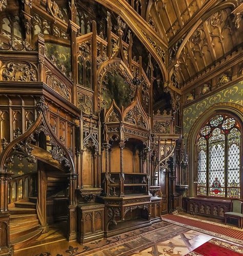
[(36, 198), (16, 201), (9, 206), (9, 212), (10, 242), (14, 250), (25, 247), (42, 234), (36, 213)]

